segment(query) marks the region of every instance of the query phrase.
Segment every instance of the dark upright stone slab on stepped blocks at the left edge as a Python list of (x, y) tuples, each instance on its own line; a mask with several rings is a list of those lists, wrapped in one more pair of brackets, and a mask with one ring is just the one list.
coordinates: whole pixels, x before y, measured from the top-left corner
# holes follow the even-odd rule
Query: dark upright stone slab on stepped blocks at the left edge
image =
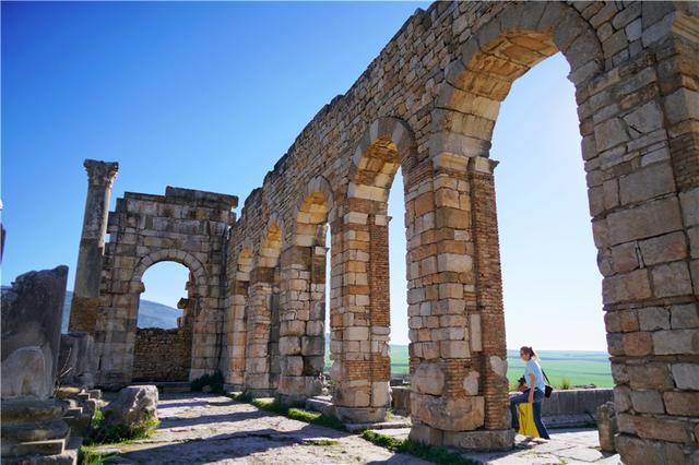
[[(54, 397), (68, 267), (29, 272), (2, 293), (3, 464), (73, 464), (76, 408)], [(67, 421), (68, 419), (68, 421)]]

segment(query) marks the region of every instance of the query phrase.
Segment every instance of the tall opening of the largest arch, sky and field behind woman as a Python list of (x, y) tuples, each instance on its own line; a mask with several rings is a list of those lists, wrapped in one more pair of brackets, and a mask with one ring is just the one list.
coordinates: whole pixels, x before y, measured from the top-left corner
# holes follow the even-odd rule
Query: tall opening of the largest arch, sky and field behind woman
[(511, 389), (523, 345), (536, 349), (558, 388), (614, 385), (568, 71), (556, 53), (518, 79), (494, 130)]

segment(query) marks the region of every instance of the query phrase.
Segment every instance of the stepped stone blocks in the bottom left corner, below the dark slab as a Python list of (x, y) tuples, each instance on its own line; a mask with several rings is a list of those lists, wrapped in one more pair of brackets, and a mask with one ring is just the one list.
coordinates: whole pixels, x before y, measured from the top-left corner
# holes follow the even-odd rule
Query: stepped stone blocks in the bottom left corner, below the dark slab
[(71, 438), (64, 412), (52, 398), (2, 401), (2, 463), (75, 464), (82, 438)]

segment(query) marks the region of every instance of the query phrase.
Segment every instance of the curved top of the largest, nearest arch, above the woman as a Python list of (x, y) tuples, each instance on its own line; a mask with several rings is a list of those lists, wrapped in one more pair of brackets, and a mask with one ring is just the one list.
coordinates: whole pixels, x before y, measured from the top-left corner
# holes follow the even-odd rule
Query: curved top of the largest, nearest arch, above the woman
[[(512, 83), (557, 51), (570, 64), (568, 79), (578, 94), (604, 71), (594, 28), (561, 2), (508, 5), (476, 29), (445, 70), (433, 110), (433, 132), (440, 136), (430, 142), (431, 157), (487, 157), (500, 103)], [(585, 124), (592, 124), (591, 115), (580, 112), (581, 132)]]

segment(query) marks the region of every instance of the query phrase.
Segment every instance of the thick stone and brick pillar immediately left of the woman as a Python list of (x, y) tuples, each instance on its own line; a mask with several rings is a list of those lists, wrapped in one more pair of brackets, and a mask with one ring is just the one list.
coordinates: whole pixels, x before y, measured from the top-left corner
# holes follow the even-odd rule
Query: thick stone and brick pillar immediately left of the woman
[[(419, 171), (424, 176), (410, 178), (416, 182), (411, 182), (406, 195), (412, 233), (411, 438), (433, 445), (507, 449), (513, 434), (500, 429), (506, 413), (493, 408), (488, 424), (485, 414), (486, 397), (500, 398), (497, 389), (506, 382), (507, 371), (499, 259), (497, 251), (493, 254), (497, 248), (493, 165), (487, 158), (453, 153), (441, 153), (431, 162), (431, 172), (426, 175), (425, 168)], [(483, 231), (489, 238), (476, 240)], [(495, 325), (488, 329), (494, 338), (487, 356), (481, 335), (486, 324)], [(507, 395), (506, 384), (502, 393)]]

